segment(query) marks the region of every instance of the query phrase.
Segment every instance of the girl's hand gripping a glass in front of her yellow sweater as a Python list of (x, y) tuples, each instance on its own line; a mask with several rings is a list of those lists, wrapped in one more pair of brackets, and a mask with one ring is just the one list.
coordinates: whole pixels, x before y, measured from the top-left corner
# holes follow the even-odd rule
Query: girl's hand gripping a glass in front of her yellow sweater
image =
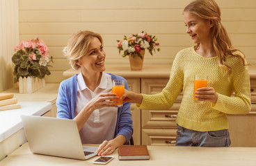
[(216, 93), (212, 87), (200, 88), (198, 91), (195, 91), (195, 98), (198, 98), (198, 101), (216, 103), (218, 100), (218, 93)]

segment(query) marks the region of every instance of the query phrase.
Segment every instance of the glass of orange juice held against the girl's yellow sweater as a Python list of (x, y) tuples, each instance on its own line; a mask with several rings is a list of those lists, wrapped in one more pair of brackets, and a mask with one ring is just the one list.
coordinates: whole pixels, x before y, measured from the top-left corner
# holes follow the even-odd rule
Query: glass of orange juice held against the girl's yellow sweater
[(198, 101), (198, 98), (195, 98), (195, 91), (197, 91), (197, 89), (200, 88), (204, 88), (207, 87), (207, 75), (195, 75), (194, 78), (194, 102), (198, 102), (198, 103), (205, 103), (205, 101)]

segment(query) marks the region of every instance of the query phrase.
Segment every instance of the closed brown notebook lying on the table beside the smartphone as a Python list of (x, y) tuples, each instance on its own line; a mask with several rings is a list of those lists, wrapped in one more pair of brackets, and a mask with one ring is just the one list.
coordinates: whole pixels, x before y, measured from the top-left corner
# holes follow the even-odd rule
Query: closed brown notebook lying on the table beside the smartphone
[(119, 160), (149, 160), (147, 145), (124, 145), (118, 147)]

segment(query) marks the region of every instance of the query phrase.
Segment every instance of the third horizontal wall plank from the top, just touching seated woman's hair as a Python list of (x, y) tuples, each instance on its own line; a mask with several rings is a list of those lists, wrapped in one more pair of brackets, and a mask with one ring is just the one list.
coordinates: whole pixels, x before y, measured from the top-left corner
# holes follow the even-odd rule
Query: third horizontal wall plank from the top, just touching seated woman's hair
[[(256, 13), (256, 12), (255, 12)], [(157, 26), (156, 26), (157, 25)], [(254, 33), (256, 21), (223, 21), (223, 26), (229, 34)], [(182, 21), (171, 22), (65, 22), (65, 23), (20, 23), (20, 35), (72, 35), (77, 30), (97, 30), (102, 34), (130, 35), (145, 30), (152, 35), (182, 34), (186, 35), (186, 28)], [(230, 31), (230, 32), (229, 32)], [(72, 32), (72, 33), (71, 33)], [(188, 35), (187, 35), (188, 36)]]

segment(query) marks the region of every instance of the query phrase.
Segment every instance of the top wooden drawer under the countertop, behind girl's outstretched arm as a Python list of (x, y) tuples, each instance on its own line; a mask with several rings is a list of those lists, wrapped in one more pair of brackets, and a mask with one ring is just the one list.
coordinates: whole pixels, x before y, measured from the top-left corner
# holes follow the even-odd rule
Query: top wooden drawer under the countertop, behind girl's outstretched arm
[[(141, 93), (157, 94), (160, 93), (168, 83), (168, 78), (141, 78)], [(175, 102), (182, 102), (182, 92), (178, 95)]]

